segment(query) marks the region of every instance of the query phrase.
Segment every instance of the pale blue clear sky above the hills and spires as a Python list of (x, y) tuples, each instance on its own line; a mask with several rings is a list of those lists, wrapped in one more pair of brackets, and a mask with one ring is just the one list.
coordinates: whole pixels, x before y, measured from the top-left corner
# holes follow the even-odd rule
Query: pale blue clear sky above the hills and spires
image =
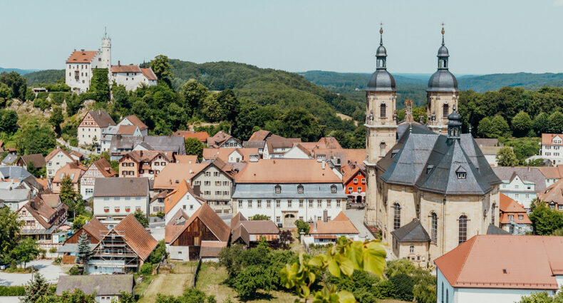
[(0, 67), (62, 69), (76, 49), (112, 61), (236, 61), (371, 73), (383, 22), (391, 73), (433, 73), (441, 23), (455, 74), (563, 71), (563, 0), (0, 0)]

